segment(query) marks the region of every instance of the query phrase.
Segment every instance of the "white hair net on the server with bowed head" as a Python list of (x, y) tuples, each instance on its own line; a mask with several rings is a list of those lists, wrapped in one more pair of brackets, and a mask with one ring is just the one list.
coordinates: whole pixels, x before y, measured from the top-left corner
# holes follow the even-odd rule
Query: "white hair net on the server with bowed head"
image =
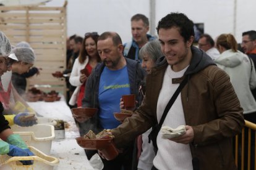
[(19, 42), (13, 51), (19, 61), (32, 64), (35, 62), (35, 53), (28, 42)]

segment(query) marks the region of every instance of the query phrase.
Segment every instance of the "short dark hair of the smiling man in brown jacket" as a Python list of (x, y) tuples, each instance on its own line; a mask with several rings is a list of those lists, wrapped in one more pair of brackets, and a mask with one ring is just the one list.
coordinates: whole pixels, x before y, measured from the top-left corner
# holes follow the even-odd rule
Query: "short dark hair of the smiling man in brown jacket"
[(190, 39), (190, 36), (195, 36), (194, 33), (194, 23), (192, 20), (187, 18), (185, 14), (171, 12), (165, 17), (161, 18), (156, 27), (157, 33), (159, 33), (160, 28), (170, 29), (173, 27), (179, 28), (179, 33), (184, 38), (184, 42)]

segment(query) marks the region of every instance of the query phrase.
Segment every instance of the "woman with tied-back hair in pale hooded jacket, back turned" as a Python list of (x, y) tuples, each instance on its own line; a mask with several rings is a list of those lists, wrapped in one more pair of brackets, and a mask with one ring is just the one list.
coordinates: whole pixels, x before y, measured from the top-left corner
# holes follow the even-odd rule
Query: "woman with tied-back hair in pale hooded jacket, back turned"
[[(232, 34), (221, 34), (217, 39), (216, 47), (221, 55), (215, 59), (215, 63), (228, 73), (244, 109), (245, 119), (247, 116), (255, 115), (256, 102), (250, 91), (256, 87), (254, 62), (247, 55), (237, 51), (237, 42)], [(256, 119), (254, 119), (255, 121)]]

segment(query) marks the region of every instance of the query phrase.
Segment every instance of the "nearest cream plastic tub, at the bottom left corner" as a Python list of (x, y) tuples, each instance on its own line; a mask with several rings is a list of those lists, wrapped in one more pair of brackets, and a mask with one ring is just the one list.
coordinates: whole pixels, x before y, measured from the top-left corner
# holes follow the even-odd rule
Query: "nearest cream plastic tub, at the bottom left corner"
[[(59, 159), (53, 156), (45, 155), (34, 147), (29, 147), (35, 156), (8, 156), (0, 155), (0, 169), (1, 170), (51, 170), (54, 166), (59, 164)], [(23, 165), (19, 160), (33, 160), (32, 165)]]

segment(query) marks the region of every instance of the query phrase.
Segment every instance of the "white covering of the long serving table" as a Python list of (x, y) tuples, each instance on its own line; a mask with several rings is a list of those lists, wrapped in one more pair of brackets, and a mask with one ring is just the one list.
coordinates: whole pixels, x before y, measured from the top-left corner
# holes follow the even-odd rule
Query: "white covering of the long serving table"
[(88, 169), (93, 170), (85, 151), (79, 147), (75, 137), (79, 131), (75, 125), (70, 108), (63, 100), (58, 102), (28, 102), (38, 114), (53, 119), (62, 119), (69, 123), (65, 129), (65, 139), (54, 139), (51, 146), (51, 156), (59, 158), (59, 165), (54, 169)]

